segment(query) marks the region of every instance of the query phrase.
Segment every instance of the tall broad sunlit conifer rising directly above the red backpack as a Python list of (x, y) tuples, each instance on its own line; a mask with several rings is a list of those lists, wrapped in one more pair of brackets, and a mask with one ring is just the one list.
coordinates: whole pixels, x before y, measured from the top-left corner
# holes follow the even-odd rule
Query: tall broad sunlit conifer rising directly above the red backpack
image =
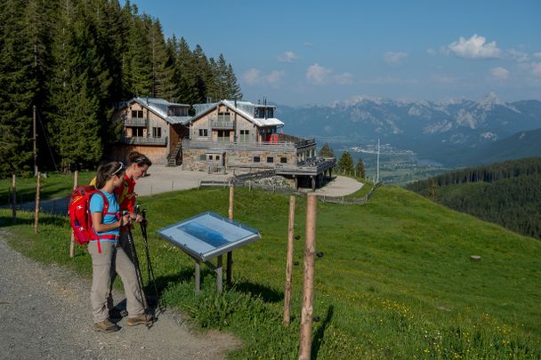
[(95, 164), (102, 156), (100, 99), (109, 86), (109, 76), (96, 56), (95, 28), (87, 23), (85, 6), (72, 6), (69, 0), (64, 4), (53, 52), (56, 71), (49, 130), (61, 166), (67, 170)]

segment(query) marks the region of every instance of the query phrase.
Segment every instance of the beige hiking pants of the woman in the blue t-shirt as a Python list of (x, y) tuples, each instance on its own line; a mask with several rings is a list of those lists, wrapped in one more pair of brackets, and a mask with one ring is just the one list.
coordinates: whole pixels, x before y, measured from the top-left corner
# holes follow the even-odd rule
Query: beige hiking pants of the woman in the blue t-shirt
[(141, 292), (132, 260), (128, 258), (121, 246), (117, 246), (117, 243), (102, 241), (100, 244), (101, 252), (98, 252), (97, 242), (91, 241), (88, 244), (88, 252), (92, 256), (93, 265), (90, 300), (94, 323), (99, 323), (109, 317), (108, 297), (113, 268), (124, 284), (128, 316), (142, 315), (144, 308), (141, 304)]

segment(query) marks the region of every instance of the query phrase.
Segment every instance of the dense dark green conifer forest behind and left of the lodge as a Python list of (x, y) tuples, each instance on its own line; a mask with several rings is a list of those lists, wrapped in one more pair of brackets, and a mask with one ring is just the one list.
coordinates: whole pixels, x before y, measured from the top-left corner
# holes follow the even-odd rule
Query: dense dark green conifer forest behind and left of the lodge
[(2, 3), (0, 176), (33, 168), (33, 107), (38, 166), (66, 171), (93, 167), (117, 140), (110, 118), (123, 100), (242, 99), (222, 54), (166, 38), (159, 20), (129, 0)]

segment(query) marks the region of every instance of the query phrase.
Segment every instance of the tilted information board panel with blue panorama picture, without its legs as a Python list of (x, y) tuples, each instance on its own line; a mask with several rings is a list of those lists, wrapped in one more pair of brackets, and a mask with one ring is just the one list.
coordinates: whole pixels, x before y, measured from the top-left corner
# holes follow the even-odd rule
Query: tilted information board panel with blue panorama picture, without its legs
[(259, 231), (214, 212), (203, 212), (157, 230), (191, 257), (206, 261), (261, 238)]

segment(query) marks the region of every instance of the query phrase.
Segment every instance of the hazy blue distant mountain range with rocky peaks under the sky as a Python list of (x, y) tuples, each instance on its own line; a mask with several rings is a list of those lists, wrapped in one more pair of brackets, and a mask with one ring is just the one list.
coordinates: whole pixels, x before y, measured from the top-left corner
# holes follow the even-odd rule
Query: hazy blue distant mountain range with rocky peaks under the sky
[[(377, 140), (413, 150), (442, 164), (484, 163), (541, 156), (541, 101), (505, 102), (490, 92), (483, 99), (402, 101), (358, 97), (329, 106), (277, 107), (293, 135), (333, 140)], [(521, 135), (522, 134), (522, 135)], [(509, 139), (507, 139), (509, 138)], [(530, 144), (530, 145), (527, 145)]]

